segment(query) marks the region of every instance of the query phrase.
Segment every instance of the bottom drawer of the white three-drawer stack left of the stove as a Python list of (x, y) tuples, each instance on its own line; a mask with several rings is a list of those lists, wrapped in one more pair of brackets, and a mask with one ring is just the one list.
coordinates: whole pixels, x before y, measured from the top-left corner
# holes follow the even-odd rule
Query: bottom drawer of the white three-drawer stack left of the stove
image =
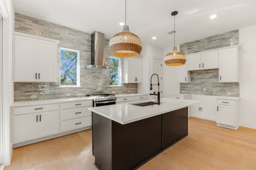
[(71, 131), (92, 125), (92, 116), (61, 121), (61, 131)]

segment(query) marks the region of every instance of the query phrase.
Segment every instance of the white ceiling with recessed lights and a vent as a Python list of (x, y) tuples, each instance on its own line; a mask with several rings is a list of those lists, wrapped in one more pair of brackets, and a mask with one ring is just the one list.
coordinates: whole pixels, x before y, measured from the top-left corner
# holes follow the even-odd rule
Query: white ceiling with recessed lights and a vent
[[(125, 0), (13, 0), (19, 14), (110, 39), (122, 31)], [(256, 24), (256, 0), (127, 0), (126, 25), (142, 43), (165, 48)], [(216, 19), (209, 19), (217, 14)], [(153, 40), (152, 37), (157, 39)]]

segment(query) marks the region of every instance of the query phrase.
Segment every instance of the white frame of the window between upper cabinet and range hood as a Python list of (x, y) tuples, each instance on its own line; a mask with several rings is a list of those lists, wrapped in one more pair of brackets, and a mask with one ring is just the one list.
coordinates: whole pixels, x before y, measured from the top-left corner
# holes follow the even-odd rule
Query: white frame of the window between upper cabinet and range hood
[[(75, 49), (68, 49), (68, 48), (64, 48), (64, 47), (60, 47), (60, 55), (61, 55), (61, 50), (66, 50), (66, 51), (74, 51), (77, 53), (77, 66), (76, 66), (76, 85), (74, 86), (66, 86), (66, 85), (61, 85), (61, 88), (65, 88), (65, 87), (80, 87), (80, 51), (79, 50), (75, 50)], [(61, 59), (60, 59), (60, 76), (61, 76)]]

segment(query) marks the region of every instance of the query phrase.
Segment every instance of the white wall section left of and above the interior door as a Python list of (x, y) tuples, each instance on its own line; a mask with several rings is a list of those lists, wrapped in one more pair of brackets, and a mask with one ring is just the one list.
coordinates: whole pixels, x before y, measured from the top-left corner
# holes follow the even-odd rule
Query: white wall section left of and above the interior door
[(155, 58), (163, 61), (162, 56), (163, 56), (163, 50), (161, 48), (158, 48), (149, 44), (143, 44), (142, 52), (140, 53), (140, 57), (143, 58), (143, 82), (138, 83), (138, 93), (146, 93), (146, 94), (150, 93), (150, 77), (152, 75), (152, 60), (153, 58)]

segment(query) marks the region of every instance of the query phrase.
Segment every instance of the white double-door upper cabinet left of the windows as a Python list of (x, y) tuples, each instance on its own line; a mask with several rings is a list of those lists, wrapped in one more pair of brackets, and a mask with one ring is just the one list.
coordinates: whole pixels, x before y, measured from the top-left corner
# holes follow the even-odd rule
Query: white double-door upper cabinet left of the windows
[(13, 81), (57, 82), (57, 40), (14, 32)]

